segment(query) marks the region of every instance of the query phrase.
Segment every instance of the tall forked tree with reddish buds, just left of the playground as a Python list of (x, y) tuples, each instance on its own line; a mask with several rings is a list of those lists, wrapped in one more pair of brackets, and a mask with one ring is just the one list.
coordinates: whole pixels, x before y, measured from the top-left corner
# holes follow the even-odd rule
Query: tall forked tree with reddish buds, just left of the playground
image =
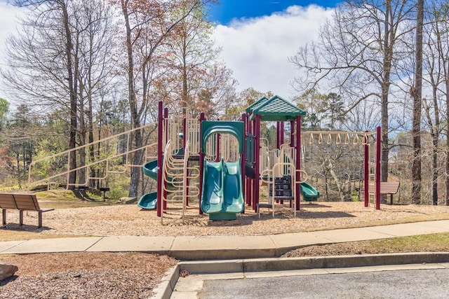
[[(163, 0), (120, 0), (117, 3), (123, 15), (126, 63), (123, 65), (128, 81), (128, 102), (130, 120), (135, 128), (145, 123), (148, 109), (152, 106), (152, 88), (155, 77), (160, 75), (160, 57), (158, 50), (172, 34), (173, 29), (201, 1), (163, 1)], [(187, 7), (185, 13), (175, 13)], [(154, 106), (154, 105), (153, 105)], [(140, 130), (135, 131), (133, 145), (141, 148), (144, 136)], [(142, 151), (135, 151), (133, 165), (142, 165)], [(133, 167), (131, 172), (129, 196), (138, 193), (140, 169)]]

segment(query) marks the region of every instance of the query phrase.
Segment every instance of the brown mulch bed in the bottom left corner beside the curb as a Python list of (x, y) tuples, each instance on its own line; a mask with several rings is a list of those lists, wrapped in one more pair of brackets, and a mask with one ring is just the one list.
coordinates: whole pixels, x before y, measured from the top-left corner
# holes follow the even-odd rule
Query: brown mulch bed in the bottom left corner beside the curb
[(147, 253), (41, 253), (0, 256), (18, 265), (0, 298), (149, 298), (176, 260)]

